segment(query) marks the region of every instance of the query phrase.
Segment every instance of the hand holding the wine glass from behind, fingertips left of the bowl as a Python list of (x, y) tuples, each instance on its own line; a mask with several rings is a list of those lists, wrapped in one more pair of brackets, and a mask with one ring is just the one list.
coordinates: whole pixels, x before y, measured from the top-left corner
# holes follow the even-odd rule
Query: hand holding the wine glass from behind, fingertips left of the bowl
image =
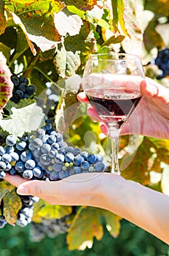
[[(130, 79), (130, 76), (128, 78)], [(103, 83), (103, 78), (101, 79)], [(122, 126), (121, 135), (133, 133), (168, 139), (169, 89), (161, 86), (151, 78), (146, 78), (146, 83), (141, 81), (141, 94), (143, 97), (128, 122)], [(78, 94), (78, 99), (81, 102), (88, 103), (84, 92)], [(87, 113), (93, 119), (101, 121), (93, 108), (88, 108)], [(139, 125), (137, 121), (139, 121)], [(105, 125), (102, 124), (101, 129), (104, 133), (108, 133)]]

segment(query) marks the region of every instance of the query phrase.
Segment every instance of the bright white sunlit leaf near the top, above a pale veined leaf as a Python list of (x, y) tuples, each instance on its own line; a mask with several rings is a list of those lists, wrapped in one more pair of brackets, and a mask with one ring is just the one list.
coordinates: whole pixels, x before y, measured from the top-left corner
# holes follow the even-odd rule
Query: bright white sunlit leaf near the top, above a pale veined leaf
[(83, 24), (82, 19), (78, 15), (66, 15), (62, 11), (54, 14), (54, 23), (60, 36), (79, 34)]

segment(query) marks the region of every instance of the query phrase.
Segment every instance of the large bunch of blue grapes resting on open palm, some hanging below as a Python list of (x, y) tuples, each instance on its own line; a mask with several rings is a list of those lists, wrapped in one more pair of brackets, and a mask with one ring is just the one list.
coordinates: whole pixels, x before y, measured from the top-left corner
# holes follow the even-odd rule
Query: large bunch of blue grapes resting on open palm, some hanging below
[[(68, 146), (49, 120), (44, 127), (29, 135), (25, 133), (22, 138), (8, 135), (0, 146), (0, 178), (9, 173), (29, 180), (58, 181), (74, 174), (103, 172), (104, 169), (100, 154), (88, 154)], [(24, 227), (31, 222), (37, 198), (20, 196), (20, 199), (22, 208), (17, 214), (17, 225)]]

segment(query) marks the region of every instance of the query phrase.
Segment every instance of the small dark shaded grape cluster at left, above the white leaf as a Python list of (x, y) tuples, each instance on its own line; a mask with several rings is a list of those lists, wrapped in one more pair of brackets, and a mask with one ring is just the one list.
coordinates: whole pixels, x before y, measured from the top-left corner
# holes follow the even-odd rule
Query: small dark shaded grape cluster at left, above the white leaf
[(12, 97), (10, 98), (12, 102), (18, 103), (20, 99), (28, 99), (30, 97), (34, 97), (36, 86), (29, 84), (28, 78), (25, 78), (23, 75), (19, 77), (13, 74), (11, 76), (11, 80), (14, 84)]

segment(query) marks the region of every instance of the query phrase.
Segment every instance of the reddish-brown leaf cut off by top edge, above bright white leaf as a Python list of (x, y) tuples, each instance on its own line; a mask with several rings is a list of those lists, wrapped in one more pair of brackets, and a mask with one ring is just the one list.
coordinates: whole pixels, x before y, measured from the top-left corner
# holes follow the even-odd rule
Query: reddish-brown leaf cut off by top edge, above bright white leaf
[(96, 0), (65, 0), (66, 5), (74, 5), (76, 8), (82, 11), (92, 10), (95, 4), (97, 4)]

